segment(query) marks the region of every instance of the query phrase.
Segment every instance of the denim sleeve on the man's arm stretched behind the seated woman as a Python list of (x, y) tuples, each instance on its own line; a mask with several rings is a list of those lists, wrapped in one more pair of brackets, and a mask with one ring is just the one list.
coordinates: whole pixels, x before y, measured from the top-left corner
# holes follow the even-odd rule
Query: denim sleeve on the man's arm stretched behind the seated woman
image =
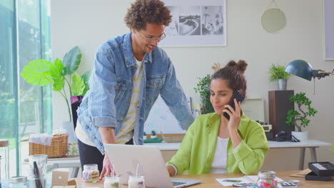
[(161, 88), (161, 98), (168, 105), (171, 113), (178, 120), (178, 124), (183, 130), (188, 129), (195, 116), (191, 113), (191, 109), (188, 105), (186, 95), (183, 93), (183, 89), (176, 79), (176, 73), (171, 60), (167, 58), (168, 68), (166, 74), (166, 80)]

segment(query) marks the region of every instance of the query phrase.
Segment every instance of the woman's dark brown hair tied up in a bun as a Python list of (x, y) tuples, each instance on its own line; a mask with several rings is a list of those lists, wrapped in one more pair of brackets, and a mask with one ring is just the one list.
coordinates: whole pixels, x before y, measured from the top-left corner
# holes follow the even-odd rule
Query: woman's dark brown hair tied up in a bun
[(218, 65), (213, 67), (216, 73), (213, 73), (211, 80), (221, 79), (226, 80), (228, 88), (232, 90), (242, 90), (243, 95), (246, 95), (246, 78), (243, 73), (246, 71), (247, 63), (243, 60), (230, 61), (224, 68), (219, 68)]

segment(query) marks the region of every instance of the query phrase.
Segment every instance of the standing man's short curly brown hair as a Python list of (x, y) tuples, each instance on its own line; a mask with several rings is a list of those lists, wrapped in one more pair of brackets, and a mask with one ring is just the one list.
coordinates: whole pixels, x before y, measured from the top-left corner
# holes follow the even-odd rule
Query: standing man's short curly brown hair
[(171, 23), (171, 11), (159, 0), (137, 0), (128, 9), (124, 21), (128, 28), (141, 30), (146, 23), (168, 26)]

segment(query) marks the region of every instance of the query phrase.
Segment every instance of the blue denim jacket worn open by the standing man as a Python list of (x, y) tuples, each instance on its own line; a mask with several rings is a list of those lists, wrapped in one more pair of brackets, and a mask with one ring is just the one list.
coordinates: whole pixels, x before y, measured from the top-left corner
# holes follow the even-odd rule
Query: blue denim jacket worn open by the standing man
[[(156, 46), (143, 58), (143, 66), (143, 95), (133, 132), (136, 145), (143, 145), (143, 125), (159, 94), (183, 130), (195, 119), (166, 52)], [(121, 129), (128, 113), (136, 69), (131, 33), (106, 41), (96, 52), (90, 89), (77, 112), (83, 130), (102, 154), (105, 151), (98, 127), (114, 127), (115, 135)]]

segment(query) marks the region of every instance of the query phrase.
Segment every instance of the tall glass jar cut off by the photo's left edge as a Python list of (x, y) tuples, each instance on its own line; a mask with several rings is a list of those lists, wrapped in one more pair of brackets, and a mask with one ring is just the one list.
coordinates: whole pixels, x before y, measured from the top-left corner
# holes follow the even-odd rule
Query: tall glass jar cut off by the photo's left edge
[(0, 139), (0, 181), (9, 179), (9, 140)]

